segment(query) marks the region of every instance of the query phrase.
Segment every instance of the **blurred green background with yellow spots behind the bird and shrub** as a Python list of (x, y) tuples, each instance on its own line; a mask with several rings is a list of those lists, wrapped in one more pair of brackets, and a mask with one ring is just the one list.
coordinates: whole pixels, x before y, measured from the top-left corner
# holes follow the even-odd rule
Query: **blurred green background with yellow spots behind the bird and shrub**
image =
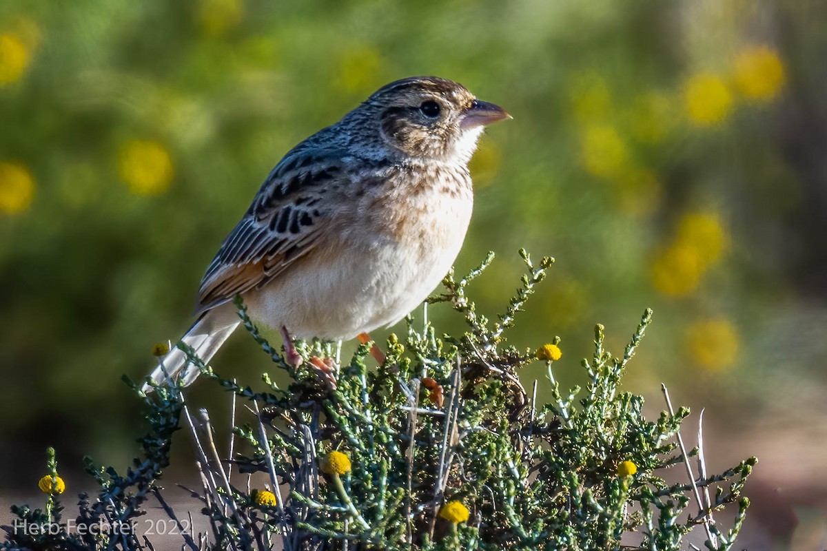
[[(272, 166), (436, 74), (514, 116), (472, 164), (457, 269), (498, 254), (481, 310), (516, 287), (516, 249), (555, 256), (512, 342), (561, 335), (571, 384), (595, 322), (619, 352), (652, 306), (629, 390), (706, 407), (711, 470), (762, 458), (764, 541), (824, 539), (825, 55), (824, 4), (794, 0), (4, 0), (0, 494), (34, 487), (47, 444), (67, 472), (126, 463), (140, 402), (119, 378), (192, 322)], [(267, 365), (241, 332), (215, 364), (251, 383)]]

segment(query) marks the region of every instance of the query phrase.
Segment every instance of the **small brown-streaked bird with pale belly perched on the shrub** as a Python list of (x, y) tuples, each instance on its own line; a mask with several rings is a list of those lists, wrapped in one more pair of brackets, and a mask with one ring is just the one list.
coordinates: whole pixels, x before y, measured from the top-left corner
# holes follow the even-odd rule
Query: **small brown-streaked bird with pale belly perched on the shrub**
[[(236, 296), (293, 353), (293, 338), (351, 340), (400, 321), (457, 259), (468, 162), (485, 126), (507, 118), (460, 83), (411, 77), (300, 142), (222, 241), (181, 341), (208, 363), (241, 321)], [(149, 379), (187, 386), (198, 373), (174, 348)]]

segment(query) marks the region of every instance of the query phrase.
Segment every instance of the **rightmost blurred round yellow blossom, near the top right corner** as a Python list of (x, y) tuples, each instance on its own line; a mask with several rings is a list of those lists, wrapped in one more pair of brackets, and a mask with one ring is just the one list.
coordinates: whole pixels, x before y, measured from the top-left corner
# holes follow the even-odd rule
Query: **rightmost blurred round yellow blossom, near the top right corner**
[(767, 46), (750, 46), (735, 57), (735, 84), (749, 99), (768, 102), (784, 86), (784, 64), (775, 50)]

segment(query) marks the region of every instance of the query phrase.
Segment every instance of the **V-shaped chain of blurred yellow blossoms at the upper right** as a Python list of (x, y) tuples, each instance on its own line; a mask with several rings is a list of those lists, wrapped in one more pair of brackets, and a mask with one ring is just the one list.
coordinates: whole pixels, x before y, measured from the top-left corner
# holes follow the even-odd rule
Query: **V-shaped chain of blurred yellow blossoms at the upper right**
[[(698, 73), (686, 78), (675, 93), (650, 90), (625, 109), (613, 107), (609, 87), (598, 74), (571, 78), (571, 112), (579, 123), (580, 160), (597, 178), (616, 183), (619, 207), (629, 214), (645, 215), (660, 201), (657, 175), (635, 159), (629, 137), (655, 144), (673, 131), (675, 106), (682, 105), (686, 121), (712, 126), (724, 121), (739, 99), (768, 102), (785, 84), (784, 64), (775, 50), (750, 45), (734, 56), (729, 74)], [(628, 131), (622, 131), (628, 128)], [(680, 254), (676, 262), (681, 262)]]

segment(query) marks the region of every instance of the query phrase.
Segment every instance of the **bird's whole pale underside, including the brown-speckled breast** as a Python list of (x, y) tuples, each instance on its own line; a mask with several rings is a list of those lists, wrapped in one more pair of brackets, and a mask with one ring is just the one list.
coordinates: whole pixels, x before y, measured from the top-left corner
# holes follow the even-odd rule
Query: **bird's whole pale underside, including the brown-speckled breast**
[(248, 293), (254, 318), (303, 339), (347, 340), (394, 324), (437, 287), (471, 221), (466, 169), (390, 167), (375, 176), (347, 190), (323, 245)]

